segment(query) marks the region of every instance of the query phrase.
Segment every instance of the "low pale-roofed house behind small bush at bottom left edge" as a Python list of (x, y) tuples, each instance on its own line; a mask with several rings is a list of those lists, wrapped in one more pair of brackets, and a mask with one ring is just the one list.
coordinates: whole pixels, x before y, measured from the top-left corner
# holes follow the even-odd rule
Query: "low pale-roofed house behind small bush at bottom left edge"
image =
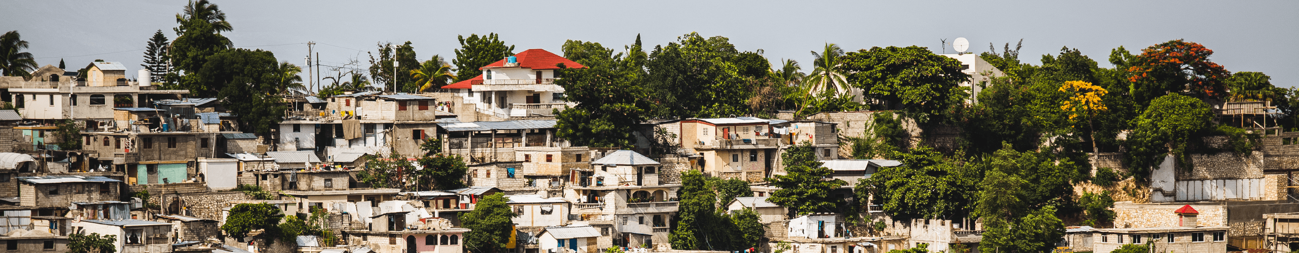
[(171, 223), (142, 219), (82, 219), (73, 223), (78, 234), (116, 235), (120, 253), (171, 252), (175, 237)]

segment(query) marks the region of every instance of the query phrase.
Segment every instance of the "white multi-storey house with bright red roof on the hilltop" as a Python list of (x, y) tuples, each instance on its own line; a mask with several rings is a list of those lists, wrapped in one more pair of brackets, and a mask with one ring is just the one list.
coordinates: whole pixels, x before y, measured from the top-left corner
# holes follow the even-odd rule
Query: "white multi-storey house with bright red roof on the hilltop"
[(552, 109), (577, 105), (564, 101), (564, 87), (556, 86), (556, 70), (586, 67), (546, 49), (527, 49), (478, 67), (482, 74), (444, 86), (475, 104), (478, 113), (501, 119), (552, 115)]

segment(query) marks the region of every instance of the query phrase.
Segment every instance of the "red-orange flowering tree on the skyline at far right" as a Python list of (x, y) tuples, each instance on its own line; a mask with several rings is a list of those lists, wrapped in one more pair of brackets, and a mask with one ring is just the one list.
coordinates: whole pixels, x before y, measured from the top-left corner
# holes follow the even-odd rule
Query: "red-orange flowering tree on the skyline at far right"
[(1187, 91), (1200, 99), (1226, 96), (1231, 75), (1209, 61), (1213, 51), (1185, 40), (1169, 40), (1142, 51), (1128, 67), (1131, 96), (1141, 105), (1170, 92)]

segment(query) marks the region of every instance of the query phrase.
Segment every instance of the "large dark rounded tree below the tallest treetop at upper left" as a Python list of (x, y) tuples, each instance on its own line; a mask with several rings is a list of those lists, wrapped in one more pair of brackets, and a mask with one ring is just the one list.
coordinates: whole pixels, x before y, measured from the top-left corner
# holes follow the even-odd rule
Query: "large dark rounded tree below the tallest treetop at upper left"
[(297, 77), (294, 70), (282, 67), (296, 66), (278, 64), (269, 51), (238, 48), (212, 54), (194, 75), (203, 77), (197, 83), (209, 88), (204, 92), (217, 91), (210, 95), (239, 115), (240, 131), (269, 135), (271, 128), (278, 127), (287, 109), (279, 99), (279, 92), (284, 90), (282, 78), (291, 80)]

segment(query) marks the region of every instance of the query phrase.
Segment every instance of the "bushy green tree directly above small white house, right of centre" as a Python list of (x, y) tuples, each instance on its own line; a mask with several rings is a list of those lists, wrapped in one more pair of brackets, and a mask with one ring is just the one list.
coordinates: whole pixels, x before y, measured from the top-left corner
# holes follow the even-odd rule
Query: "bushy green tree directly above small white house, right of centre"
[(838, 213), (846, 204), (842, 199), (830, 195), (848, 182), (839, 179), (825, 180), (834, 171), (822, 167), (817, 161), (816, 148), (811, 141), (786, 149), (781, 158), (785, 160), (786, 175), (776, 175), (769, 179), (772, 186), (778, 187), (766, 200), (790, 209), (791, 214), (807, 215), (811, 213)]

